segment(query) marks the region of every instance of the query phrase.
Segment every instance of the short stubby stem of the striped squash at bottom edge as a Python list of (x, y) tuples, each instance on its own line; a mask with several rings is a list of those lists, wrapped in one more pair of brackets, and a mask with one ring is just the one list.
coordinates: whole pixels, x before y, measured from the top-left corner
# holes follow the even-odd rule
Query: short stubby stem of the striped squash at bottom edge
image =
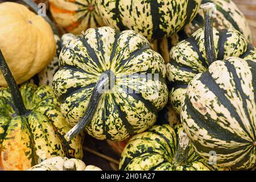
[(183, 166), (187, 163), (188, 160), (188, 144), (189, 139), (187, 134), (183, 133), (181, 131), (180, 139), (179, 139), (179, 146), (177, 148), (177, 152), (173, 161), (173, 164), (175, 167), (177, 166)]

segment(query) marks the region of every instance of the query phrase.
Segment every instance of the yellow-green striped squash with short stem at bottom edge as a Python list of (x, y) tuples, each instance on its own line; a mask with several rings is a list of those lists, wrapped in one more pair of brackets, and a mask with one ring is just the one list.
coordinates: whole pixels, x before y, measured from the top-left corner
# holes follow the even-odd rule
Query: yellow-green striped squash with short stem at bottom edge
[(155, 125), (134, 135), (122, 152), (120, 170), (209, 171), (213, 167), (193, 149), (181, 124)]

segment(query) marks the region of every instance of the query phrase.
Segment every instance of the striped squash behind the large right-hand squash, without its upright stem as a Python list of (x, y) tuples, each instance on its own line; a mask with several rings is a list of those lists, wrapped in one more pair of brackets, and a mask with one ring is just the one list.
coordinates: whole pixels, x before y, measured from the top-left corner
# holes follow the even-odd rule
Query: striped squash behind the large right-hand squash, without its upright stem
[[(207, 23), (211, 29), (212, 24)], [(217, 30), (213, 28), (213, 45), (217, 60), (230, 56), (244, 59), (255, 59), (255, 48), (247, 42), (245, 36), (234, 28)], [(167, 64), (168, 80), (171, 81), (170, 102), (177, 113), (184, 100), (189, 81), (198, 73), (207, 71), (210, 63), (205, 49), (204, 28), (197, 30), (191, 38), (183, 40), (170, 51), (170, 62)]]

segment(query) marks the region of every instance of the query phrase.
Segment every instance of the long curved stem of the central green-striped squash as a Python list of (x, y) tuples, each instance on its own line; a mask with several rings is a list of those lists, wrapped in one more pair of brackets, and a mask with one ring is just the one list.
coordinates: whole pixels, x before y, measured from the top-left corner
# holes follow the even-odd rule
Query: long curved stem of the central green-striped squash
[(106, 90), (108, 90), (110, 82), (113, 81), (112, 79), (110, 79), (110, 76), (110, 70), (102, 73), (97, 84), (94, 86), (92, 96), (90, 96), (90, 101), (85, 111), (84, 117), (82, 117), (82, 119), (65, 135), (67, 140), (71, 140), (72, 138), (74, 138), (84, 129), (85, 126), (88, 126), (90, 124), (97, 110), (98, 102), (100, 102), (102, 94)]

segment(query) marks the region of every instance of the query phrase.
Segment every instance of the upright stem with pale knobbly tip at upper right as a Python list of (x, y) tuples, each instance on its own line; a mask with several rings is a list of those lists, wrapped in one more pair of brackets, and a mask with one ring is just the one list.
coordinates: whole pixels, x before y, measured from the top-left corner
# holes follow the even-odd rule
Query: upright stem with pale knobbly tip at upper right
[(216, 15), (217, 9), (214, 3), (205, 3), (201, 5), (201, 9), (204, 11), (204, 46), (210, 65), (217, 60), (213, 41), (213, 16)]

